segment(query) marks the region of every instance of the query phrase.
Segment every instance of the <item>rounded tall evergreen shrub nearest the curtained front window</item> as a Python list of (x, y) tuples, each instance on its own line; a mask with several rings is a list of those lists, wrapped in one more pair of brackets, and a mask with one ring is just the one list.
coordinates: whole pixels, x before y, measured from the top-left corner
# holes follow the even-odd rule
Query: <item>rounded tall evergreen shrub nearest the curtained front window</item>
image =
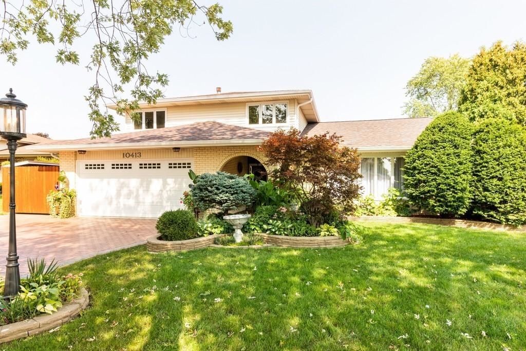
[(404, 186), (410, 202), (444, 217), (467, 212), (471, 202), (472, 125), (446, 112), (417, 138), (406, 155)]

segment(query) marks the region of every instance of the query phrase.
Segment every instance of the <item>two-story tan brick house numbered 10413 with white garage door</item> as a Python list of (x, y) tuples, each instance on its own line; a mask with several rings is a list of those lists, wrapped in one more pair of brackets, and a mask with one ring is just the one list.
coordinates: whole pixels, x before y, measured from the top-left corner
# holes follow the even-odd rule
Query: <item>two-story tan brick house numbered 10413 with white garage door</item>
[[(154, 106), (140, 105), (136, 113), (138, 119), (127, 116), (124, 133), (111, 138), (32, 147), (59, 154), (60, 169), (77, 190), (79, 215), (158, 217), (165, 210), (183, 208), (180, 198), (190, 184), (189, 169), (197, 174), (265, 174), (268, 167), (258, 145), (270, 132), (290, 127), (306, 135), (336, 132), (345, 144), (359, 146), (365, 159), (372, 160), (363, 164), (369, 167), (364, 172), (371, 182), (366, 189), (376, 194), (382, 188), (374, 182), (383, 182), (382, 187), (400, 184), (399, 159), (429, 123), (321, 123), (310, 90), (164, 98)], [(369, 135), (358, 137), (363, 133)]]

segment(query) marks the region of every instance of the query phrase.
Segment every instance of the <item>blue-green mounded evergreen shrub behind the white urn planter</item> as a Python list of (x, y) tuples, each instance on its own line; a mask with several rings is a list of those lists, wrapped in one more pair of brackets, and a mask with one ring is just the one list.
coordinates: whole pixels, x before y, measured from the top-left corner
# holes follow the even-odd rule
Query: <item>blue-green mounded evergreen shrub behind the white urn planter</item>
[(223, 213), (241, 206), (250, 206), (256, 190), (246, 178), (225, 172), (199, 175), (191, 190), (194, 204), (200, 210), (216, 208)]

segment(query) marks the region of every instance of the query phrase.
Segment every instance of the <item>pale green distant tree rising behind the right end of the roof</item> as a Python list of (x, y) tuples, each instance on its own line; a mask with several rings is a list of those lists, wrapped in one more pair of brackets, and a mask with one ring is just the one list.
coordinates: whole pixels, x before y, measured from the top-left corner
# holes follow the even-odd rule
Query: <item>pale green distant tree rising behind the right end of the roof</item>
[(404, 114), (429, 117), (456, 110), (469, 65), (470, 60), (458, 54), (427, 58), (420, 71), (407, 82), (406, 95), (411, 99), (403, 106)]

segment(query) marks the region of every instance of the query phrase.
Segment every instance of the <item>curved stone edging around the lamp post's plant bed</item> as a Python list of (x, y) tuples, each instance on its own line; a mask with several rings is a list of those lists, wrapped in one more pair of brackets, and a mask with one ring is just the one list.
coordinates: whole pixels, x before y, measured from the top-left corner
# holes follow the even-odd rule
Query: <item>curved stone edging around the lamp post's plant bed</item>
[(59, 327), (80, 314), (89, 304), (89, 293), (85, 288), (80, 289), (80, 296), (58, 308), (52, 315), (41, 314), (31, 319), (22, 320), (0, 327), (0, 344), (30, 335), (35, 335)]

